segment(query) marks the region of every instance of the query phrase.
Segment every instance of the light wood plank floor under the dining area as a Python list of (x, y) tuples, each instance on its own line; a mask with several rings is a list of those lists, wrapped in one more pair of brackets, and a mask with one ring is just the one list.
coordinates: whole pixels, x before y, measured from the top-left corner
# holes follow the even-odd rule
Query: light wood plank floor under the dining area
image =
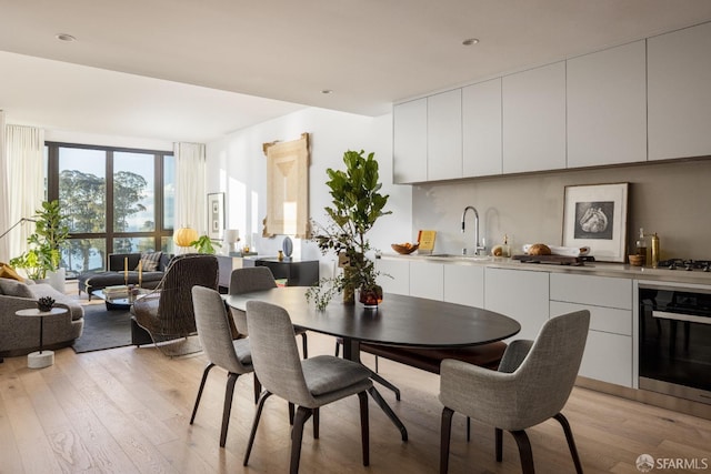
[[(332, 353), (333, 340), (309, 334), (311, 354)], [(373, 366), (373, 359), (364, 356)], [(268, 401), (250, 464), (242, 466), (254, 403), (252, 377), (237, 384), (226, 448), (219, 447), (224, 372), (214, 369), (196, 424), (188, 421), (206, 360), (167, 359), (153, 347), (86, 354), (58, 351), (56, 364), (27, 369), (26, 357), (0, 364), (0, 473), (276, 473), (289, 465), (287, 404)], [(370, 403), (370, 467), (360, 454), (358, 399), (322, 409), (321, 437), (304, 431), (302, 473), (435, 473), (441, 405), (435, 375), (381, 360), (380, 373), (402, 390), (402, 401), (379, 387), (409, 430), (400, 434)], [(711, 421), (577, 387), (563, 413), (587, 473), (639, 473), (642, 453), (705, 460), (711, 472)], [(513, 438), (504, 434), (504, 460), (493, 458), (493, 430), (455, 416), (451, 473), (518, 473)], [(560, 426), (529, 431), (539, 473), (573, 472)], [(654, 472), (658, 472), (657, 470)]]

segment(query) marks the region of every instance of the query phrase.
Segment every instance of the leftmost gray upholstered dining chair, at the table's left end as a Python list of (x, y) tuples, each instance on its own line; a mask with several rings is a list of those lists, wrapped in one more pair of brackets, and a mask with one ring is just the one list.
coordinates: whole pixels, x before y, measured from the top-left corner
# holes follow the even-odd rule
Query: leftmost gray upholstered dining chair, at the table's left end
[[(230, 331), (229, 315), (224, 307), (224, 301), (220, 293), (203, 286), (192, 288), (192, 302), (196, 313), (196, 324), (198, 326), (198, 336), (200, 343), (208, 356), (208, 365), (202, 372), (200, 389), (196, 399), (196, 405), (192, 409), (190, 424), (196, 420), (202, 390), (208, 380), (210, 370), (216, 365), (226, 370), (227, 389), (224, 391), (224, 406), (222, 409), (222, 428), (220, 433), (220, 446), (224, 447), (227, 440), (227, 428), (230, 423), (230, 413), (232, 411), (232, 395), (234, 393), (234, 383), (237, 379), (250, 372), (253, 372), (252, 356), (250, 353), (249, 339), (232, 340)], [(259, 382), (254, 379), (254, 397), (259, 394)]]

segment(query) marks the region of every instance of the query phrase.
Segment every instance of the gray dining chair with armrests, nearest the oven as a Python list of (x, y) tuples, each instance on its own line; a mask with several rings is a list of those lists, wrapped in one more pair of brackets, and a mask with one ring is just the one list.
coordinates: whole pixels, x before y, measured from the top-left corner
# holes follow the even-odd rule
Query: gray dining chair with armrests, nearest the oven
[(572, 431), (561, 410), (575, 382), (589, 326), (587, 310), (552, 317), (543, 324), (535, 341), (511, 342), (498, 371), (444, 360), (439, 395), (444, 405), (440, 473), (447, 473), (449, 467), (454, 412), (494, 426), (497, 461), (502, 458), (502, 430), (509, 431), (519, 446), (524, 474), (534, 472), (525, 428), (553, 417), (563, 427), (575, 471), (582, 473)]

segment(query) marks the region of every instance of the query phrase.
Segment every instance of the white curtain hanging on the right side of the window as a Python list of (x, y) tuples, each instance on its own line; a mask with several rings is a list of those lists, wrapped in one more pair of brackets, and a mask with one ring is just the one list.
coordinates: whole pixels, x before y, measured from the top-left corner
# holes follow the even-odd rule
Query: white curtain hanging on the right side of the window
[(176, 143), (176, 230), (192, 228), (207, 233), (207, 158), (202, 143)]

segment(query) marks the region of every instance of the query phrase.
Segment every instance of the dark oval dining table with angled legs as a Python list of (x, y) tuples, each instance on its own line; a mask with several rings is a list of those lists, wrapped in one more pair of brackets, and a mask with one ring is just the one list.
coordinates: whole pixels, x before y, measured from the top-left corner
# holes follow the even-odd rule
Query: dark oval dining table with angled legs
[[(521, 325), (511, 317), (480, 307), (387, 293), (377, 309), (333, 300), (324, 310), (308, 302), (301, 286), (276, 288), (239, 295), (224, 295), (226, 303), (247, 311), (247, 302), (259, 300), (289, 312), (300, 327), (343, 340), (343, 357), (360, 362), (360, 343), (370, 342), (420, 349), (465, 347), (515, 335)], [(382, 380), (372, 372), (374, 380)], [(369, 391), (375, 403), (398, 426), (402, 440), (408, 432), (380, 393)]]

